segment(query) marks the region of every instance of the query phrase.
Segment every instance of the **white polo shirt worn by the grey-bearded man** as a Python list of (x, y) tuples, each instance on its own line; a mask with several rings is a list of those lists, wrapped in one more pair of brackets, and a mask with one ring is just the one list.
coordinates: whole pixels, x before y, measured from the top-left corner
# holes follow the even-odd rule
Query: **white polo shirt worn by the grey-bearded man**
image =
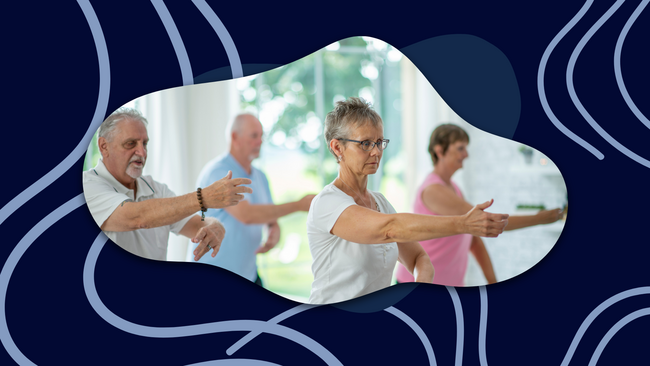
[[(156, 182), (151, 176), (141, 176), (136, 182), (138, 196), (133, 197), (133, 190), (118, 182), (106, 169), (101, 159), (96, 167), (83, 172), (86, 204), (99, 227), (127, 199), (140, 202), (152, 198), (176, 197), (176, 194), (166, 184)], [(178, 234), (191, 217), (188, 216), (174, 224), (152, 229), (125, 232), (104, 231), (104, 233), (113, 242), (133, 254), (149, 259), (166, 260), (169, 232)]]

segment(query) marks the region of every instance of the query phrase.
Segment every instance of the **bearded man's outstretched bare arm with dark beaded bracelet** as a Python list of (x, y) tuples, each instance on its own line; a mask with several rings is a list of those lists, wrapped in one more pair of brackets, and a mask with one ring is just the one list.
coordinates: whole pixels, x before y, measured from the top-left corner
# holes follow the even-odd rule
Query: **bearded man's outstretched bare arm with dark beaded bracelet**
[[(228, 172), (224, 178), (214, 182), (202, 190), (203, 205), (206, 208), (223, 208), (236, 205), (244, 196), (251, 193), (250, 179), (230, 179)], [(201, 206), (196, 192), (170, 198), (154, 198), (142, 202), (123, 202), (111, 216), (104, 221), (101, 229), (105, 231), (132, 231), (170, 225), (178, 222), (197, 211)]]

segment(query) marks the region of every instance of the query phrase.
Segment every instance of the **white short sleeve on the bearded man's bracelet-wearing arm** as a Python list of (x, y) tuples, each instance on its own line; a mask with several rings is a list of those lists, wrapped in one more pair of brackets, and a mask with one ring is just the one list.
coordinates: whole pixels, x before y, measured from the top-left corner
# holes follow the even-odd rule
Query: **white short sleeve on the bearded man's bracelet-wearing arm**
[(129, 199), (126, 194), (116, 192), (105, 180), (93, 179), (90, 175), (84, 175), (83, 187), (86, 205), (99, 227), (122, 202)]

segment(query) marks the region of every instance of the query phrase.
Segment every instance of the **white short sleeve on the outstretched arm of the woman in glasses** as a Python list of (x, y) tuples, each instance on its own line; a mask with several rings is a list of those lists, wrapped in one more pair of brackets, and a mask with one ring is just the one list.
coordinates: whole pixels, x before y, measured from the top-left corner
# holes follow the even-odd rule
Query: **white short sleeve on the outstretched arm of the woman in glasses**
[(329, 234), (343, 211), (354, 204), (352, 197), (331, 187), (323, 190), (314, 198), (309, 209), (313, 228)]

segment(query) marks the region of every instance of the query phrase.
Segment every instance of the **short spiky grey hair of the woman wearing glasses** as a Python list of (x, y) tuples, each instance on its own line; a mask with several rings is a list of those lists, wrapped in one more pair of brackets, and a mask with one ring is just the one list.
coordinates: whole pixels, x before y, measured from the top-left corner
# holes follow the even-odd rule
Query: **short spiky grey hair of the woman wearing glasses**
[[(324, 134), (330, 153), (337, 157), (329, 147), (330, 141), (348, 138), (352, 129), (366, 123), (370, 123), (374, 127), (384, 126), (384, 121), (379, 114), (363, 98), (350, 97), (336, 102), (334, 109), (325, 117)], [(346, 141), (341, 141), (341, 144), (345, 146)]]

